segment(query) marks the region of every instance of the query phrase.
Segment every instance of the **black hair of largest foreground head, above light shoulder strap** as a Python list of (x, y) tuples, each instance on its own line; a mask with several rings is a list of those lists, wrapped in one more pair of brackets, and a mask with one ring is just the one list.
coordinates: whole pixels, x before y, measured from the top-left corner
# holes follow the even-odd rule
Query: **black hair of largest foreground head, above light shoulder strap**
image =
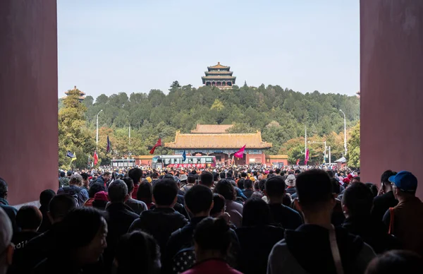
[(321, 169), (311, 169), (298, 175), (297, 195), (302, 206), (312, 207), (333, 198), (329, 175)]

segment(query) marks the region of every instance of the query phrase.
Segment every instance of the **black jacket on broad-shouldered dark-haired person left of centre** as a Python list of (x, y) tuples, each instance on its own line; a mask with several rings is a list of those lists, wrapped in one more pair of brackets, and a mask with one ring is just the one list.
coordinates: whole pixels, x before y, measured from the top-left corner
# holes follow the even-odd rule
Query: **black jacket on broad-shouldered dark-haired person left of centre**
[(154, 208), (143, 211), (129, 228), (129, 232), (143, 230), (151, 234), (159, 244), (160, 251), (164, 254), (166, 244), (172, 232), (188, 224), (184, 215), (173, 208)]

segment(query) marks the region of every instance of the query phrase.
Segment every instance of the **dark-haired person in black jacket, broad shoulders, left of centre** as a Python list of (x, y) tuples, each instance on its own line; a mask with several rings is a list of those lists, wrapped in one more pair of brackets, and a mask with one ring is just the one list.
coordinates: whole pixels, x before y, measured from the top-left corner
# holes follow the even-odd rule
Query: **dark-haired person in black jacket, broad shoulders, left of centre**
[(159, 179), (153, 188), (155, 208), (143, 211), (130, 226), (128, 232), (143, 230), (151, 234), (163, 252), (172, 232), (188, 224), (185, 216), (173, 209), (177, 194), (178, 186), (175, 180)]

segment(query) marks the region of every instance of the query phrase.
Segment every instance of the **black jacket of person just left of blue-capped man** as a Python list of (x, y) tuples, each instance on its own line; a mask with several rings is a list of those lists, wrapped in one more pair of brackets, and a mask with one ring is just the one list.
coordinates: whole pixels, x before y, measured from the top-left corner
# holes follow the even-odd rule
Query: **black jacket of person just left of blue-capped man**
[(396, 237), (386, 233), (384, 223), (380, 220), (374, 220), (371, 216), (347, 218), (342, 227), (351, 234), (360, 236), (366, 244), (372, 246), (376, 254), (391, 249), (400, 249), (400, 242)]

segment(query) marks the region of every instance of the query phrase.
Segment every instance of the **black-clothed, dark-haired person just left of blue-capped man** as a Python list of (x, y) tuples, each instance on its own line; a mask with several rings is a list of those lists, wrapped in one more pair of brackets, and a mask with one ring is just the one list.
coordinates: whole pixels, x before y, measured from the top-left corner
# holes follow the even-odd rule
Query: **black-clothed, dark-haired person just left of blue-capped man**
[(400, 249), (398, 240), (386, 232), (381, 220), (372, 218), (372, 191), (362, 183), (353, 183), (345, 189), (342, 208), (345, 214), (343, 228), (351, 234), (360, 236), (364, 242), (372, 246), (376, 254), (391, 249)]

